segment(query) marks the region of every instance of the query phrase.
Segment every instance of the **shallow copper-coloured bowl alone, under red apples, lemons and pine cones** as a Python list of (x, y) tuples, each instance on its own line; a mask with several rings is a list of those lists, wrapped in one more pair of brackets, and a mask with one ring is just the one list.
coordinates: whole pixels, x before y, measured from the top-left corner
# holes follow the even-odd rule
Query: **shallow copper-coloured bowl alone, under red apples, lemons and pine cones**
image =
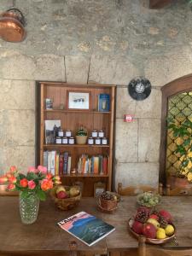
[[(139, 234), (137, 234), (135, 231), (133, 231), (132, 229), (131, 229), (131, 225), (132, 225), (132, 222), (133, 222), (134, 220), (133, 220), (133, 218), (130, 218), (129, 219), (129, 221), (128, 221), (128, 230), (131, 232), (131, 234), (133, 235), (133, 236), (135, 236), (137, 239), (139, 238)], [(154, 238), (154, 239), (152, 239), (152, 238), (148, 238), (148, 237), (146, 237), (146, 242), (147, 243), (151, 243), (151, 244), (162, 244), (162, 243), (166, 243), (166, 242), (168, 242), (168, 241), (171, 241), (173, 238), (175, 238), (175, 236), (176, 236), (176, 228), (175, 228), (175, 225), (174, 224), (172, 224), (172, 226), (174, 227), (174, 230), (175, 230), (175, 232), (174, 232), (174, 234), (172, 235), (172, 236), (167, 236), (166, 238), (164, 238), (164, 239), (157, 239), (157, 238)]]

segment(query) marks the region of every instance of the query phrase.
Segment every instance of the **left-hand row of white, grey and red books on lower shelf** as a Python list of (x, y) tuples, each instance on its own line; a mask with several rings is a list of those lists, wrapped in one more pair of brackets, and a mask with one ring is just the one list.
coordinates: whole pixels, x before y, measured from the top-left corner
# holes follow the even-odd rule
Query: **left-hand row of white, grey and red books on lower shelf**
[(53, 175), (65, 175), (71, 172), (72, 157), (68, 152), (44, 151), (44, 166)]

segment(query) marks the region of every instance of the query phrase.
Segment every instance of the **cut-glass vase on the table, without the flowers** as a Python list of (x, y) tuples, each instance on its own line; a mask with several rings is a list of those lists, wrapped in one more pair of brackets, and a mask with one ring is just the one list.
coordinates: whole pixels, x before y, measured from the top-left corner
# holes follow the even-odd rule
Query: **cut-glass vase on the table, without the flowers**
[(23, 224), (32, 224), (38, 218), (39, 198), (29, 192), (25, 198), (20, 194), (20, 218)]

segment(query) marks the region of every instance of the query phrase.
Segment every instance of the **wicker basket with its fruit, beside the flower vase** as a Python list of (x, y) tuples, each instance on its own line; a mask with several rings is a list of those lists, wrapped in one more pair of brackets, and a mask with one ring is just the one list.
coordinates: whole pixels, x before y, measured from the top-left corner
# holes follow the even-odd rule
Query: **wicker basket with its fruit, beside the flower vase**
[(81, 191), (79, 186), (56, 186), (50, 191), (55, 205), (61, 210), (70, 210), (79, 204), (81, 199)]

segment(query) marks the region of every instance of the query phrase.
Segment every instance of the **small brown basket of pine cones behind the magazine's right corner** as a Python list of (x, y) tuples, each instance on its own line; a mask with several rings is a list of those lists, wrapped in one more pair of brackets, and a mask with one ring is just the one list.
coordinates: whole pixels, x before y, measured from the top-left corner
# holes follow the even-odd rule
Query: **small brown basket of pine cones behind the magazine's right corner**
[(103, 191), (102, 193), (97, 194), (96, 197), (99, 207), (106, 211), (113, 211), (116, 209), (120, 201), (119, 195), (110, 191)]

